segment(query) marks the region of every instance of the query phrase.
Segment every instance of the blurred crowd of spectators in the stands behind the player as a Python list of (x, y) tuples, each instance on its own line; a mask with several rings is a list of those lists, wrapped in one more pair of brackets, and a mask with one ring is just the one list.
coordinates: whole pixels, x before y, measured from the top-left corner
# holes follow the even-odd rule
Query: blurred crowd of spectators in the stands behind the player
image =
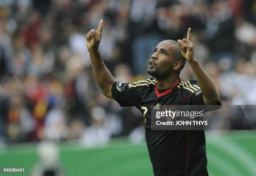
[[(256, 0), (1, 0), (0, 141), (143, 139), (143, 118), (104, 97), (84, 35), (117, 81), (148, 78), (155, 46), (192, 28), (195, 56), (225, 105), (256, 105)], [(189, 65), (181, 77), (195, 79)]]

